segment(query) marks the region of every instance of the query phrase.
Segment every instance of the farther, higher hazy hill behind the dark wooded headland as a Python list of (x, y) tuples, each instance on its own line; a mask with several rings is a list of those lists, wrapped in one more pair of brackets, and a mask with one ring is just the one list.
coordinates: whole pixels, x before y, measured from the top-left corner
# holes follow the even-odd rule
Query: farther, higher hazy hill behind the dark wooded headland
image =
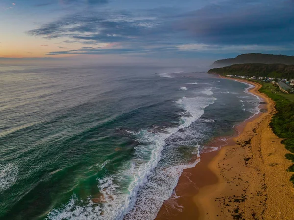
[(212, 64), (212, 67), (225, 67), (233, 64), (244, 63), (264, 63), (264, 64), (286, 64), (294, 65), (294, 56), (285, 55), (273, 55), (263, 53), (248, 53), (241, 54), (235, 58), (229, 58), (224, 60), (217, 60)]

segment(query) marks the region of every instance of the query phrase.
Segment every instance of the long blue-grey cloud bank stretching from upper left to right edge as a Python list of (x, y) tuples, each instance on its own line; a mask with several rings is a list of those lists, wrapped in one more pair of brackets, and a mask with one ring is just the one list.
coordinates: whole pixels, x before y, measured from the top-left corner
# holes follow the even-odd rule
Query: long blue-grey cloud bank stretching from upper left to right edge
[[(88, 2), (106, 3), (104, 0)], [(68, 37), (70, 43), (119, 42), (123, 46), (121, 49), (83, 48), (50, 54), (165, 52), (176, 45), (193, 43), (222, 48), (224, 45), (255, 44), (285, 46), (294, 44), (293, 12), (293, 0), (228, 0), (196, 11), (176, 8), (96, 10), (68, 15), (28, 33), (45, 38)], [(148, 50), (150, 47), (152, 49)]]

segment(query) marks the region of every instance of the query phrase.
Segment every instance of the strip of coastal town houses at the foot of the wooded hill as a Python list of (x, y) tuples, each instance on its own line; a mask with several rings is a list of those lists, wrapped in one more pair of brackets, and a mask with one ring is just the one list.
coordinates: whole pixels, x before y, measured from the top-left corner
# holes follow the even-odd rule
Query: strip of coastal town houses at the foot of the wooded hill
[(230, 78), (240, 78), (252, 81), (271, 82), (284, 93), (294, 93), (294, 79), (273, 78), (273, 77), (255, 77), (255, 76), (239, 76), (239, 75), (226, 75)]

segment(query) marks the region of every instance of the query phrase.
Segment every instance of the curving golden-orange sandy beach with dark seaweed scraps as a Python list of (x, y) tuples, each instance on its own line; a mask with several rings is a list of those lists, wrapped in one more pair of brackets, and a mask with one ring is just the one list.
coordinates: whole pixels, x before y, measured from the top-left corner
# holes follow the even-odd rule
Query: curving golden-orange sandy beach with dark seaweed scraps
[[(235, 80), (235, 79), (234, 79)], [(267, 109), (236, 126), (236, 135), (210, 146), (201, 161), (183, 171), (175, 195), (168, 199), (157, 220), (293, 220), (294, 188), (286, 171), (288, 151), (271, 130), (274, 102), (258, 92)]]

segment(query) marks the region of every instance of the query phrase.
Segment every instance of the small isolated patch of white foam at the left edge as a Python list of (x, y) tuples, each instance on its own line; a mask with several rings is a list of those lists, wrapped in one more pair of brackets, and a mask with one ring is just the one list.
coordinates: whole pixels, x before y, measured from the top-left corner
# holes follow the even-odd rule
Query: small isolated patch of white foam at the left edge
[(14, 164), (0, 165), (0, 192), (12, 186), (18, 175), (18, 168)]

